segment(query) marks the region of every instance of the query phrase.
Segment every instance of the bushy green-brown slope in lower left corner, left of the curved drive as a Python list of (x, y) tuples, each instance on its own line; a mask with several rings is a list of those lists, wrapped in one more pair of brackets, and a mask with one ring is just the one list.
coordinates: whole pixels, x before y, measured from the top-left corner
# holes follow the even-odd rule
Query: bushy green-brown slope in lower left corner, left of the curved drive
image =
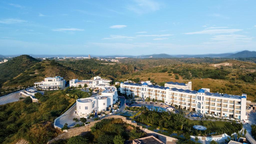
[(15, 143), (23, 138), (31, 144), (43, 144), (60, 133), (52, 122), (76, 100), (65, 90), (47, 91), (38, 98), (39, 103), (32, 103), (27, 97), (0, 105), (0, 143)]

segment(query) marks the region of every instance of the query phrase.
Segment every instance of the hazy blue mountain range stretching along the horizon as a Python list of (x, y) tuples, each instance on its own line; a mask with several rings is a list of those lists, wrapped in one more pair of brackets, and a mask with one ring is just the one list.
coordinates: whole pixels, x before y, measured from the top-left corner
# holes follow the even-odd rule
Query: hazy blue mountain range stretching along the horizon
[[(11, 55), (8, 55), (11, 56)], [(18, 56), (18, 55), (12, 55), (12, 57)], [(88, 55), (35, 55), (30, 54), (32, 57), (88, 57)], [(115, 57), (128, 57), (128, 58), (192, 58), (192, 57), (219, 57), (219, 58), (247, 58), (247, 57), (256, 57), (255, 51), (249, 51), (244, 50), (242, 52), (238, 53), (223, 53), (223, 54), (201, 54), (201, 55), (169, 55), (169, 54), (152, 54), (152, 55), (138, 55), (138, 56), (132, 56), (132, 55), (114, 55), (114, 56), (102, 56), (102, 55), (91, 55), (92, 57), (103, 57), (103, 58), (115, 58)], [(0, 55), (1, 57), (5, 57), (3, 55)]]

